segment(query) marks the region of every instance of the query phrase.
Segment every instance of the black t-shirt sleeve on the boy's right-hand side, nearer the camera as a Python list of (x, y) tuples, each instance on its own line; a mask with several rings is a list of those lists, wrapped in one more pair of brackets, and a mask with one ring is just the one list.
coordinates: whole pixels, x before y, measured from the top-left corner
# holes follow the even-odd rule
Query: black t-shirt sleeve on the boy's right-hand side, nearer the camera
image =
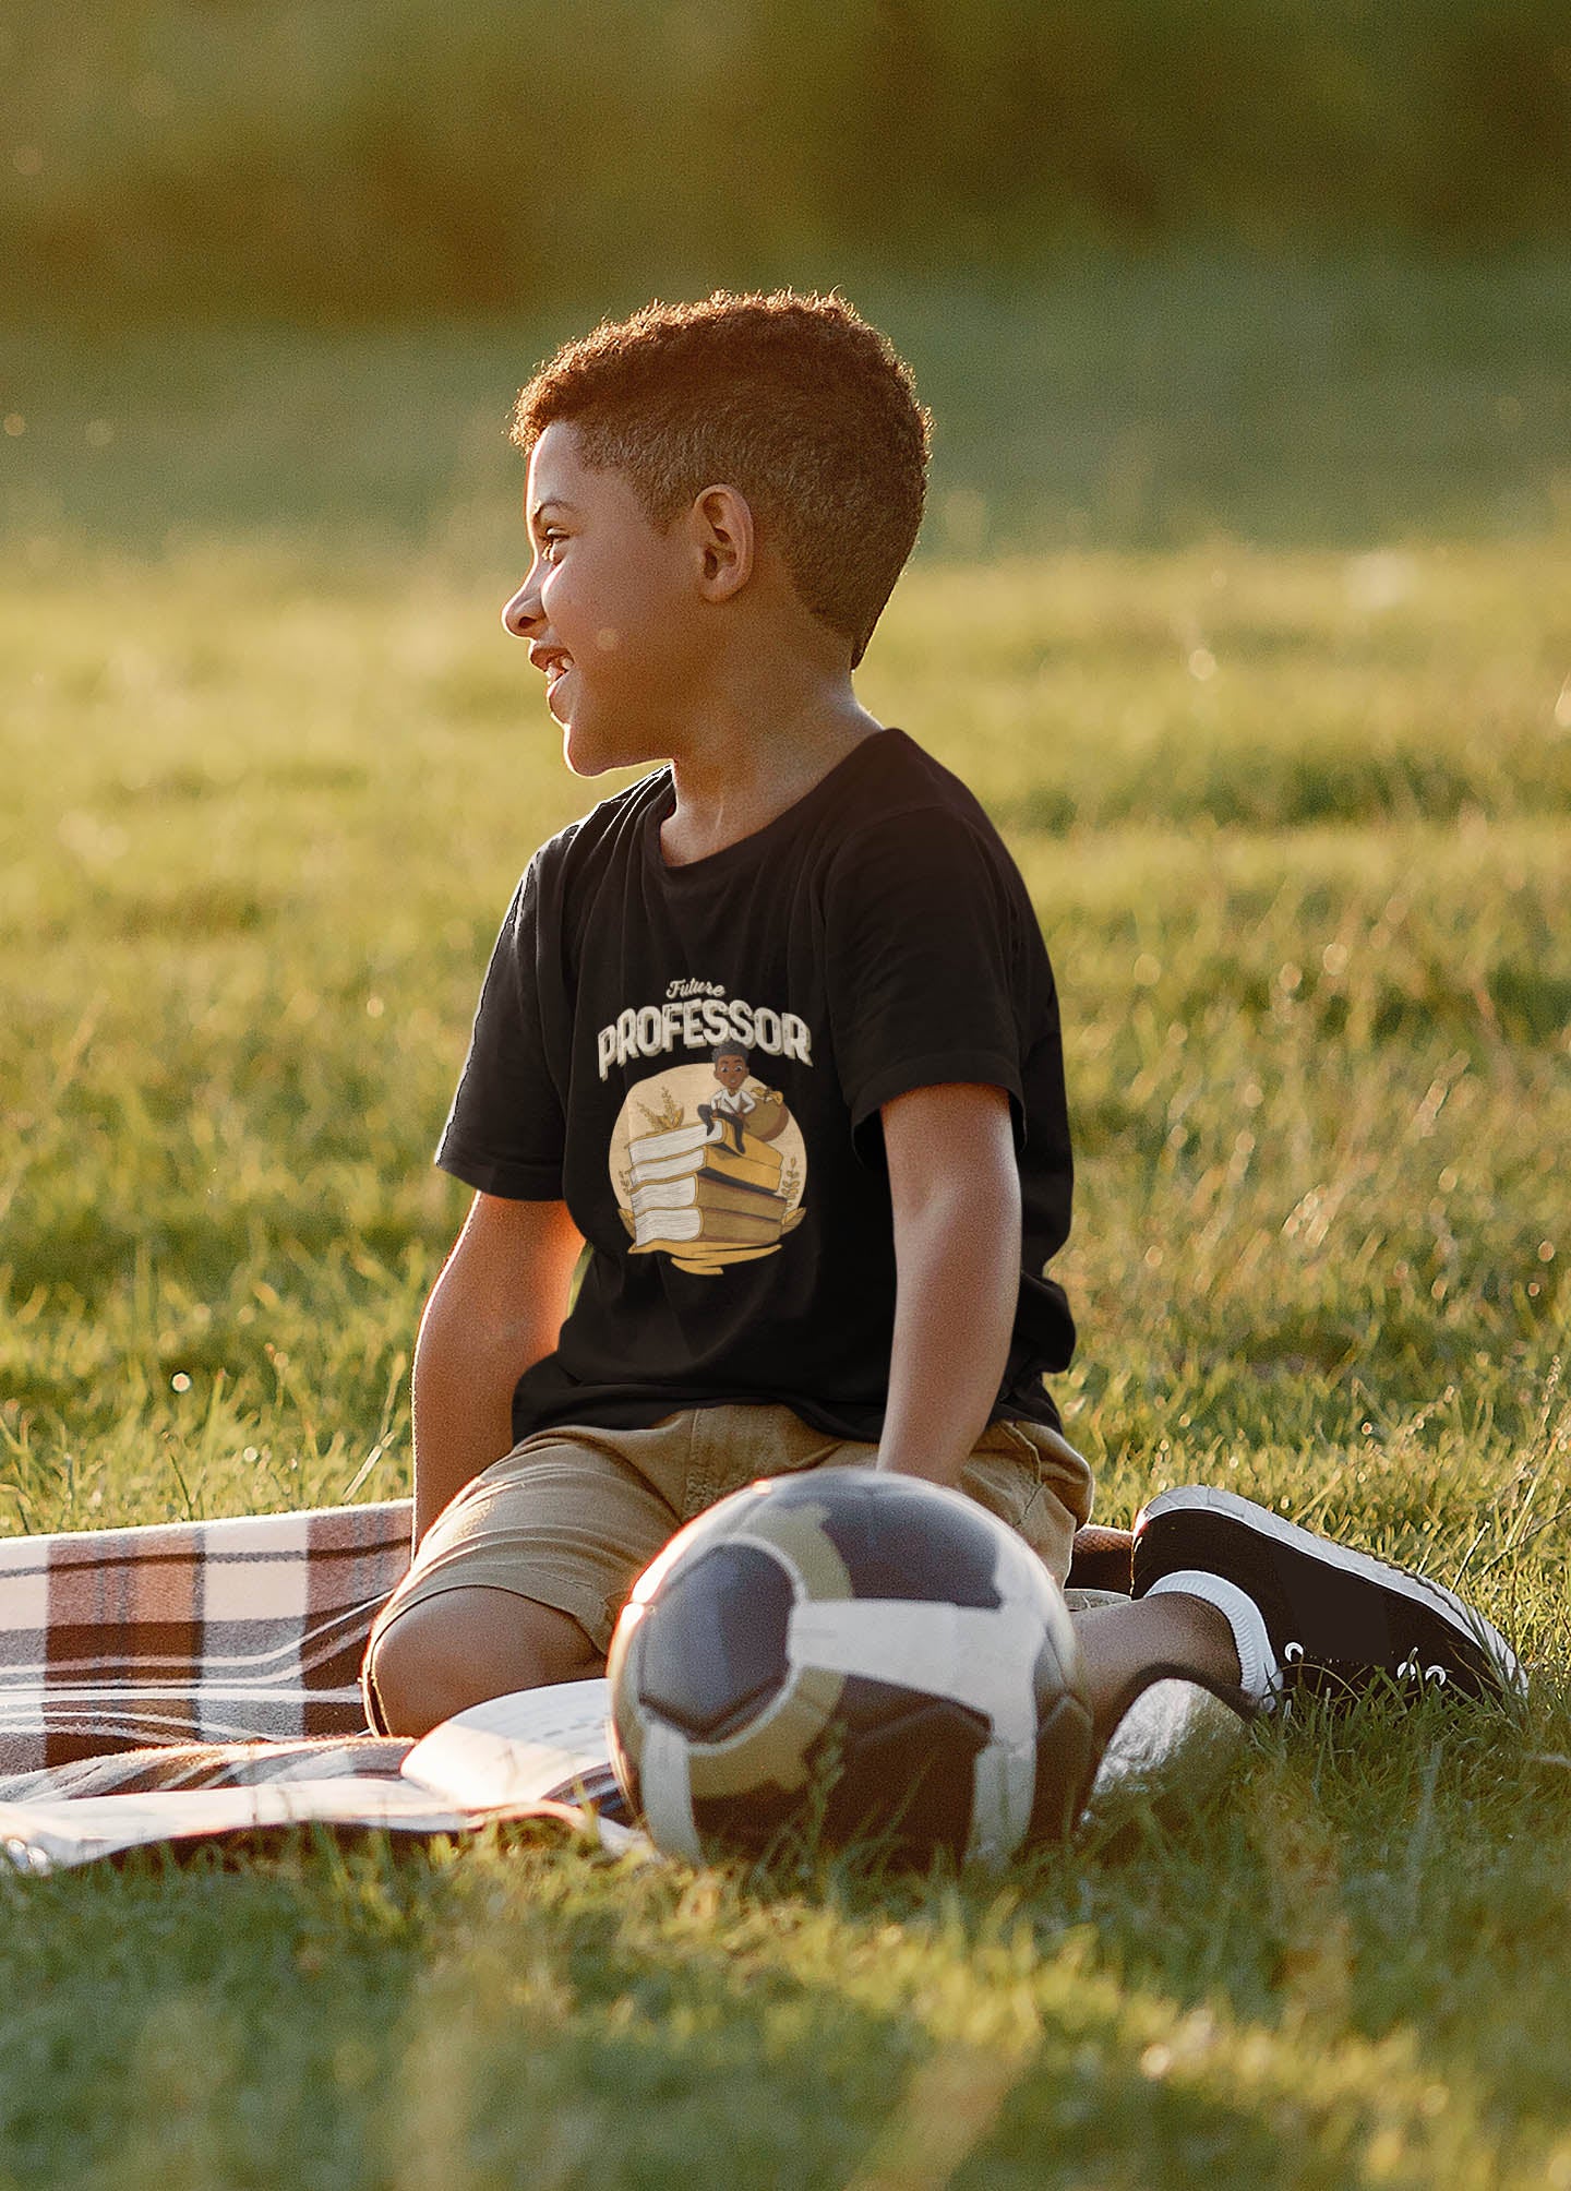
[(852, 1139), (879, 1163), (879, 1106), (975, 1080), (1010, 1096), (1023, 1137), (1019, 909), (1004, 861), (942, 811), (859, 830), (824, 894), (828, 1021)]

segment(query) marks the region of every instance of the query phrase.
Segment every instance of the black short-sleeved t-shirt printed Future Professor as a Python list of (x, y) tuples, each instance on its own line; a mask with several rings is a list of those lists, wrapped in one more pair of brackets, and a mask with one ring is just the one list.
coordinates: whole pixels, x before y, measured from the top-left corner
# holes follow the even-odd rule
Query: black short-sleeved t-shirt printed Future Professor
[(438, 1163), (565, 1201), (589, 1242), (513, 1435), (784, 1402), (876, 1439), (894, 1334), (879, 1106), (1008, 1089), (1023, 1271), (995, 1415), (1058, 1424), (1074, 1352), (1039, 1275), (1069, 1231), (1052, 968), (1025, 885), (966, 787), (868, 734), (756, 835), (670, 868), (670, 771), (530, 861), (475, 1014)]

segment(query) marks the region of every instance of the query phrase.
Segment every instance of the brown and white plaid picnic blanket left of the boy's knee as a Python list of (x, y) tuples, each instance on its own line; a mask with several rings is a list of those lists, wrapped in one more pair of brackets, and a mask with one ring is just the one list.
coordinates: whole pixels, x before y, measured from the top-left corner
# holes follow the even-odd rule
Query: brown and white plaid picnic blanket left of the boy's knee
[(364, 1735), (359, 1659), (408, 1564), (408, 1499), (0, 1540), (0, 1775)]

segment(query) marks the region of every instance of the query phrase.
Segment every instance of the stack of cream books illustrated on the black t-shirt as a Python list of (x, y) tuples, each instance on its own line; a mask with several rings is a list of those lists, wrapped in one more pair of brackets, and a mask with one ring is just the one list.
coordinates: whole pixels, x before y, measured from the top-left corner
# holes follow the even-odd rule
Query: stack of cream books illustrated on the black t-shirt
[(743, 1135), (743, 1155), (706, 1126), (644, 1133), (627, 1144), (633, 1251), (670, 1249), (695, 1260), (736, 1260), (780, 1240), (789, 1203), (780, 1152)]

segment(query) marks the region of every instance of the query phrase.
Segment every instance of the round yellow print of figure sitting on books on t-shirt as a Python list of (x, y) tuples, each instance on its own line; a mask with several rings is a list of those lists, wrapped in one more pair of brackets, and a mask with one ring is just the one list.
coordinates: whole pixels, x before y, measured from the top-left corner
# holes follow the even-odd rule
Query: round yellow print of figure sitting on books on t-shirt
[(708, 1065), (668, 1065), (627, 1091), (611, 1128), (611, 1188), (631, 1255), (716, 1277), (773, 1255), (802, 1223), (806, 1142), (780, 1089), (738, 1041)]

